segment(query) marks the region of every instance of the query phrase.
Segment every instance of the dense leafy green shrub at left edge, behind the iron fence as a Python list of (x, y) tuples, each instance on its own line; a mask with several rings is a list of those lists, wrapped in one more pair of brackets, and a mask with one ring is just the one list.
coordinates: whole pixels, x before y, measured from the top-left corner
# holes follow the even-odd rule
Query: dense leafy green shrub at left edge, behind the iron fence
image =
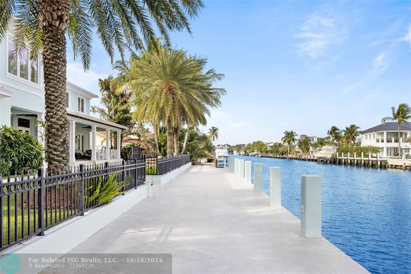
[(36, 170), (43, 165), (44, 148), (31, 135), (12, 129), (0, 127), (0, 159), (10, 163), (11, 171)]

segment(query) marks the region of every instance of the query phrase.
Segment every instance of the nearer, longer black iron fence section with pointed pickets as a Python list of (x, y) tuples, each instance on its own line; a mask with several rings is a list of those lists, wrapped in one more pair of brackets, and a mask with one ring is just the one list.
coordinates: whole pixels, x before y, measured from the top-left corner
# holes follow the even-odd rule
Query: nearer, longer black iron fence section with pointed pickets
[[(145, 159), (80, 165), (65, 172), (0, 174), (0, 250), (20, 243), (116, 195), (143, 185)], [(101, 195), (100, 195), (101, 194)]]

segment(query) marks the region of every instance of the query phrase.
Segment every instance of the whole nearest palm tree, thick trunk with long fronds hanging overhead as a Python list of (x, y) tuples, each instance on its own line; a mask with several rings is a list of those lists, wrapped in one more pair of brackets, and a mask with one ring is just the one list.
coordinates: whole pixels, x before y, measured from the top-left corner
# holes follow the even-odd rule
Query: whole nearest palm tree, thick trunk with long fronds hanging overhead
[(191, 33), (189, 17), (196, 17), (202, 7), (201, 0), (147, 0), (143, 3), (135, 0), (0, 1), (0, 39), (4, 38), (14, 16), (16, 52), (28, 42), (30, 58), (42, 53), (49, 168), (63, 168), (69, 163), (66, 32), (74, 59), (80, 58), (84, 69), (88, 70), (95, 30), (113, 62), (116, 49), (124, 59), (126, 50), (142, 49), (143, 40), (155, 39), (153, 24), (167, 44), (170, 44), (170, 30)]

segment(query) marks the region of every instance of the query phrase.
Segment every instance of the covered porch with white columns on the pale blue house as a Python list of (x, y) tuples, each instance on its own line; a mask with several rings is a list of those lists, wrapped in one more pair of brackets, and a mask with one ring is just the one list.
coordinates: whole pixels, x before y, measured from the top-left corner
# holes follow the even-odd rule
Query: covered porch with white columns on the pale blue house
[(71, 166), (121, 160), (120, 136), (127, 127), (82, 113), (67, 111), (67, 114)]

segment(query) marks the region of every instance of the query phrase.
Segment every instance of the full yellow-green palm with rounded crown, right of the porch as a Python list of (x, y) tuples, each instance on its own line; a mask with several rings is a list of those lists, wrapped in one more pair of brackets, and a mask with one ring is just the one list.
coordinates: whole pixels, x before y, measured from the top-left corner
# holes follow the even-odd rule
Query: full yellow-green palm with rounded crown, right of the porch
[(130, 68), (123, 75), (122, 88), (133, 93), (135, 119), (165, 124), (167, 156), (177, 154), (179, 148), (173, 148), (178, 146), (180, 126), (184, 122), (206, 124), (209, 108), (220, 106), (220, 97), (226, 94), (225, 89), (212, 86), (223, 75), (214, 70), (203, 72), (206, 62), (182, 50), (149, 46), (140, 57), (130, 59)]

